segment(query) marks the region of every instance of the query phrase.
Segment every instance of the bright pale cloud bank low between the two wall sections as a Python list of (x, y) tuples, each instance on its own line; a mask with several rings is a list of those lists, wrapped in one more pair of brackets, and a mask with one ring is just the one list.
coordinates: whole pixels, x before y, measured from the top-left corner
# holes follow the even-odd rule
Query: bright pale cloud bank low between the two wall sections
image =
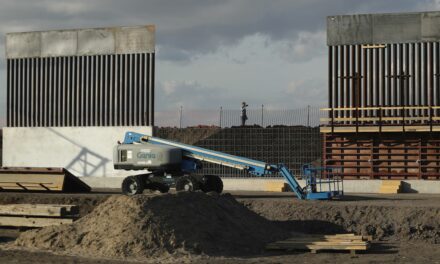
[[(159, 61), (158, 87), (166, 98), (158, 94), (157, 100), (162, 103), (157, 105), (162, 107), (160, 110), (168, 106), (176, 109), (177, 102), (185, 108), (199, 109), (238, 109), (242, 101), (248, 102), (250, 108), (262, 104), (282, 109), (322, 105), (326, 96), (325, 51), (310, 55), (294, 52), (296, 45), (313, 42), (320, 34), (304, 32), (297, 41), (290, 41), (290, 46), (267, 35), (254, 34), (235, 45), (223, 45), (215, 52), (201, 54), (184, 66)], [(281, 48), (284, 50), (280, 51)], [(286, 58), (287, 55), (290, 57)], [(173, 81), (165, 81), (170, 77)], [(319, 96), (303, 97), (311, 88), (309, 85), (314, 85)], [(286, 90), (288, 87), (290, 90)]]

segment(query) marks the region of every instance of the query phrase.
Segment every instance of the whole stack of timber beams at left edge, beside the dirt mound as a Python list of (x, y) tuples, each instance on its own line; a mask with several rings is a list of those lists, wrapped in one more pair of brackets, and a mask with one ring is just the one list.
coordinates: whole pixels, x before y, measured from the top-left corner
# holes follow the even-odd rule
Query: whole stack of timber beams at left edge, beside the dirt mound
[(0, 205), (0, 226), (44, 227), (71, 224), (78, 218), (76, 205), (7, 204)]

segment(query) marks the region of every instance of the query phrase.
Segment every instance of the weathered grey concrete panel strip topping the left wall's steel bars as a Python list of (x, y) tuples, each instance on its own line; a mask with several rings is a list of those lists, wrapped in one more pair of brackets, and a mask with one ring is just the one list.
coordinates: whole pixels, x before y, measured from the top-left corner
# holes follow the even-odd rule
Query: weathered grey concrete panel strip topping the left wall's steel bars
[(153, 25), (9, 33), (6, 35), (6, 57), (152, 53), (154, 34)]

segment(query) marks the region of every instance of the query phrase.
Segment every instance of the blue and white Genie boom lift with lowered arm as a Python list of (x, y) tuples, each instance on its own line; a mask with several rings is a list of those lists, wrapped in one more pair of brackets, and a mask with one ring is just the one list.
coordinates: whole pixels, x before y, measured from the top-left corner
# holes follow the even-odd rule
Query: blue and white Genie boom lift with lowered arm
[(307, 186), (302, 188), (284, 164), (268, 164), (135, 132), (125, 134), (124, 142), (115, 147), (113, 156), (115, 169), (150, 171), (124, 179), (122, 192), (127, 195), (142, 193), (144, 189), (168, 192), (173, 184), (177, 191), (221, 193), (223, 182), (219, 176), (194, 174), (201, 169), (202, 161), (244, 170), (255, 176), (279, 173), (299, 199), (327, 200), (343, 193), (339, 185), (336, 190), (318, 191), (316, 185), (321, 179), (313, 173), (306, 174)]

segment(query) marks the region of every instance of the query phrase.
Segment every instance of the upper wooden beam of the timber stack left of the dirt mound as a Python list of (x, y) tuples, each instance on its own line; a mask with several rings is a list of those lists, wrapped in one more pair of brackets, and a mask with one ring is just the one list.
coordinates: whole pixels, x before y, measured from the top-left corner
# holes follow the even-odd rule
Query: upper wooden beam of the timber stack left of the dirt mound
[(0, 205), (0, 215), (28, 215), (62, 217), (76, 215), (79, 208), (76, 205), (55, 204), (7, 204)]

